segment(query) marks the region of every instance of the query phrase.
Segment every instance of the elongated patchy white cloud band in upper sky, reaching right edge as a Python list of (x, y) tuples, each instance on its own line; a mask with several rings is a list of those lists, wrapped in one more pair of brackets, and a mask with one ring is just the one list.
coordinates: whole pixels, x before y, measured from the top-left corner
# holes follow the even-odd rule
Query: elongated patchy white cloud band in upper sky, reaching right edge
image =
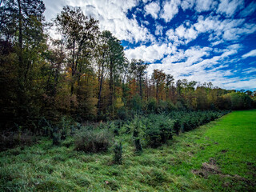
[(193, 25), (186, 22), (186, 26), (182, 24), (175, 30), (167, 30), (166, 36), (174, 41), (175, 45), (180, 45), (198, 38), (198, 34), (208, 33), (210, 34), (208, 40), (212, 43), (211, 45), (216, 46), (225, 41), (238, 40), (246, 34), (253, 34), (256, 31), (256, 24), (245, 22), (246, 19), (244, 18), (220, 20), (218, 16), (206, 18), (199, 16), (198, 22)]

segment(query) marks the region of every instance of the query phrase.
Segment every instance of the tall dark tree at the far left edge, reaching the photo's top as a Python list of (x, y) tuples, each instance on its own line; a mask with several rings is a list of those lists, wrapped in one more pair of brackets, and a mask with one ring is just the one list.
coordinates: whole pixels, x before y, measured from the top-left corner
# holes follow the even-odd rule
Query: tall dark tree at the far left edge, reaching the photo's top
[(9, 65), (17, 71), (14, 113), (20, 124), (26, 121), (33, 111), (31, 107), (37, 103), (33, 95), (40, 93), (34, 80), (38, 78), (39, 65), (44, 62), (42, 53), (46, 49), (44, 10), (42, 0), (4, 0), (0, 3), (0, 38), (13, 47), (17, 56), (9, 61)]

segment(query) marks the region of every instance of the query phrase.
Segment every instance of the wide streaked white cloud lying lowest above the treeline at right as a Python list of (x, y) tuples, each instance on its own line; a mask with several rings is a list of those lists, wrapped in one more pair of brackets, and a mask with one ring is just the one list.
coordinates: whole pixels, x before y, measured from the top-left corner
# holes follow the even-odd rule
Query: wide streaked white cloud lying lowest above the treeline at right
[(228, 58), (237, 54), (238, 48), (237, 44), (228, 46), (213, 57), (210, 54), (213, 49), (210, 47), (193, 46), (186, 51), (176, 50), (162, 59), (162, 64), (151, 64), (148, 72), (151, 74), (154, 69), (160, 69), (166, 74), (174, 75), (175, 80), (186, 78), (188, 81), (214, 82), (214, 86), (230, 88), (229, 84), (238, 82), (240, 78), (230, 78), (234, 72), (223, 69), (232, 62)]

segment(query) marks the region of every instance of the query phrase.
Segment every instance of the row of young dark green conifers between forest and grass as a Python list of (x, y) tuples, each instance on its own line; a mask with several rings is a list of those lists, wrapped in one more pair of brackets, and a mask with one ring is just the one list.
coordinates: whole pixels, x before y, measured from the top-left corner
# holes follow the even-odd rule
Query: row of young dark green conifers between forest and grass
[[(54, 145), (65, 140), (66, 135), (74, 138), (74, 149), (86, 153), (98, 153), (114, 150), (114, 163), (122, 164), (122, 138), (132, 138), (136, 154), (142, 153), (143, 147), (156, 148), (166, 144), (174, 134), (193, 130), (197, 126), (206, 124), (222, 117), (229, 111), (175, 111), (170, 114), (148, 114), (137, 116), (132, 121), (100, 123), (98, 126), (77, 126), (54, 132)], [(130, 136), (131, 137), (130, 137)], [(116, 142), (114, 142), (116, 141)], [(117, 142), (118, 141), (118, 142)], [(63, 142), (69, 143), (69, 142)], [(114, 144), (114, 145), (113, 145)], [(67, 145), (68, 146), (68, 145)]]

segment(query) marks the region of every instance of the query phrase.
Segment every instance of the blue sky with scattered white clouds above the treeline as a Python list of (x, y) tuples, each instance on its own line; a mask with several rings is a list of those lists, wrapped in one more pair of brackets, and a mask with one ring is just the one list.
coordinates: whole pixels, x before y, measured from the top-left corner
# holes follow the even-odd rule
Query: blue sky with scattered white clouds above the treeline
[(142, 59), (174, 79), (256, 90), (256, 0), (44, 0), (46, 21), (80, 6)]

